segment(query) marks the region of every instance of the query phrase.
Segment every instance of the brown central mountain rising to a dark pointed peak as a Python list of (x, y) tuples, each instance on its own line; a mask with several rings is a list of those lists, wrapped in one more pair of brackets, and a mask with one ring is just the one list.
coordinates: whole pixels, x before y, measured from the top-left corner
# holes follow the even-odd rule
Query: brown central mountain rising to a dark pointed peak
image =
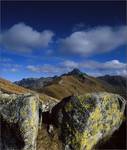
[[(23, 82), (26, 81), (25, 86), (28, 86), (30, 89), (39, 93), (45, 93), (57, 99), (62, 99), (70, 95), (80, 95), (87, 92), (106, 91), (105, 86), (96, 78), (90, 77), (87, 74), (80, 72), (78, 69), (74, 69), (60, 77), (53, 77), (50, 78), (50, 80), (47, 79), (49, 78), (45, 78), (45, 84), (43, 82), (44, 78), (36, 79), (36, 81), (31, 80), (32, 86), (30, 86), (30, 83), (27, 85), (30, 79), (21, 80), (15, 83), (24, 86)], [(39, 81), (43, 82), (43, 84), (38, 84), (36, 88), (35, 86), (33, 88), (33, 84), (35, 85), (34, 82), (39, 83)]]

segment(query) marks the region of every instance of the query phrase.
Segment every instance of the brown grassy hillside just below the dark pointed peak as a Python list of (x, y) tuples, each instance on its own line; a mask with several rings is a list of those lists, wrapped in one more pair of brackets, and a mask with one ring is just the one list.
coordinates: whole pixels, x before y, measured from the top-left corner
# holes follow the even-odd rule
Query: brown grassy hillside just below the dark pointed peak
[[(108, 88), (107, 88), (108, 89)], [(85, 76), (84, 79), (75, 76), (62, 76), (52, 84), (39, 89), (39, 93), (45, 93), (57, 99), (70, 95), (80, 95), (87, 92), (107, 91), (99, 80), (94, 77)]]

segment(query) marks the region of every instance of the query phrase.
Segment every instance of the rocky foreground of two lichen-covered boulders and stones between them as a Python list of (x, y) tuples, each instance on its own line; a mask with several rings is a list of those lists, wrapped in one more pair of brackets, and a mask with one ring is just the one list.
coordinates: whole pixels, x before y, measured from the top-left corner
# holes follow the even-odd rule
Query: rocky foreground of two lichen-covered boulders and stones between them
[(46, 126), (44, 132), (49, 137), (57, 134), (61, 142), (54, 150), (92, 150), (120, 127), (124, 110), (125, 100), (106, 92), (70, 96), (46, 105), (35, 94), (0, 92), (0, 148), (46, 150), (37, 142), (38, 130)]

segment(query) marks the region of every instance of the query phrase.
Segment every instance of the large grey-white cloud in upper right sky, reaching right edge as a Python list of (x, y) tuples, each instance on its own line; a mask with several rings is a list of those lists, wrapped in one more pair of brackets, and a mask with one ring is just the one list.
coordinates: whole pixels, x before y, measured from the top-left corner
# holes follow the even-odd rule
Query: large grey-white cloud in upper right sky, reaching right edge
[(105, 53), (125, 45), (127, 26), (118, 28), (97, 27), (87, 31), (76, 31), (60, 40), (60, 49), (67, 54), (92, 55)]

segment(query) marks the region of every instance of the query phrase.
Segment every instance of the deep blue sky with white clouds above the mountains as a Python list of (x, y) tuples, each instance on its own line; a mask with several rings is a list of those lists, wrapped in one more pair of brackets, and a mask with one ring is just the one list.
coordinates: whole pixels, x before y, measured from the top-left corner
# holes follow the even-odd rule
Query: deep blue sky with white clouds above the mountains
[(17, 81), (79, 68), (127, 75), (125, 1), (2, 1), (0, 76)]

